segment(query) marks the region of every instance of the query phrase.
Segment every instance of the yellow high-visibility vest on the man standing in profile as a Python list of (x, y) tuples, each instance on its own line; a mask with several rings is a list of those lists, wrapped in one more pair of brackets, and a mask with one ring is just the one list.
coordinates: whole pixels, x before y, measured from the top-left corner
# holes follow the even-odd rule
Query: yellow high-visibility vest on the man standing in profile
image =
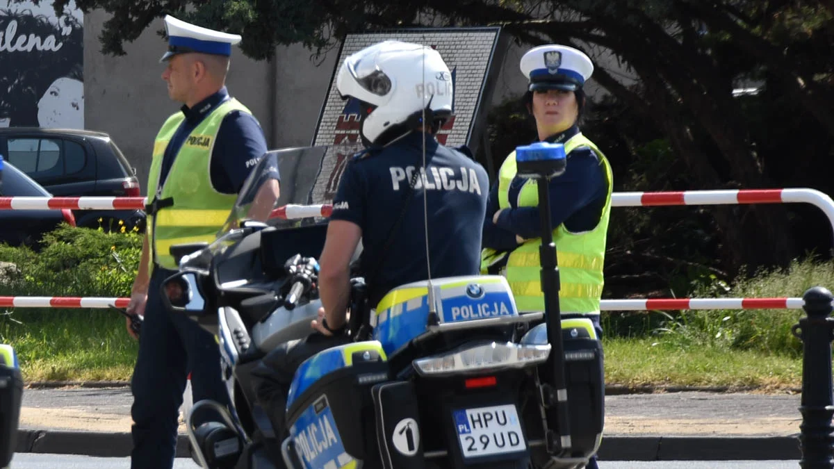
[(211, 154), (224, 117), (232, 111), (251, 113), (237, 99), (221, 103), (208, 114), (183, 141), (174, 157), (161, 194), (158, 192), (162, 161), (168, 142), (185, 119), (183, 113), (169, 117), (157, 134), (153, 144), (150, 177), (148, 178), (148, 204), (157, 197), (173, 198), (173, 206), (148, 214), (150, 259), (166, 269), (177, 269), (172, 245), (214, 241), (218, 230), (229, 218), (237, 194), (222, 194), (211, 184)]

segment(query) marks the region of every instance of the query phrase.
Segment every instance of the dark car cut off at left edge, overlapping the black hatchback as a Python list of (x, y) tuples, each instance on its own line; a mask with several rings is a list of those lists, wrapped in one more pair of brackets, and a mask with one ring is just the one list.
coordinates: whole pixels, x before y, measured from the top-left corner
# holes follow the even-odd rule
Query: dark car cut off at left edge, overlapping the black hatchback
[[(0, 196), (49, 197), (51, 194), (13, 164), (3, 162)], [(56, 229), (61, 222), (75, 226), (73, 211), (60, 210), (0, 210), (0, 243), (38, 246), (44, 233)]]

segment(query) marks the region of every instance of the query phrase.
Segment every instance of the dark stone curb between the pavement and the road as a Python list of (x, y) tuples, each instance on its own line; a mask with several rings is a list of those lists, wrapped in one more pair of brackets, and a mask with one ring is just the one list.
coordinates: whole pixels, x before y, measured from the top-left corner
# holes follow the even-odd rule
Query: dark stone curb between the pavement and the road
[[(130, 456), (129, 433), (18, 430), (15, 452)], [(177, 457), (190, 457), (188, 437), (179, 435)], [(797, 436), (604, 436), (600, 461), (799, 461)]]

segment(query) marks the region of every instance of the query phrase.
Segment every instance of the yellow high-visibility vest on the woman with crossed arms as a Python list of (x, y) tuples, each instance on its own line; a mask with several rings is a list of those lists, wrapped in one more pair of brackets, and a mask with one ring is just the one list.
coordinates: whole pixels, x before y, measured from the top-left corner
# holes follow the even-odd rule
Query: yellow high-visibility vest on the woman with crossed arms
[[(605, 239), (611, 207), (613, 174), (608, 159), (600, 149), (582, 134), (576, 134), (565, 142), (565, 153), (579, 147), (590, 147), (600, 156), (605, 168), (608, 194), (602, 216), (594, 229), (582, 233), (570, 233), (565, 224), (553, 230), (556, 245), (556, 259), (559, 264), (560, 291), (559, 306), (562, 313), (598, 314), (600, 297), (604, 285), (602, 269), (605, 264)], [(570, 164), (570, 163), (569, 163)], [(515, 152), (511, 153), (498, 174), (498, 204), (500, 209), (535, 207), (539, 194), (535, 179), (527, 179), (519, 191), (516, 204), (510, 204), (510, 183), (515, 178)], [(510, 252), (505, 276), (515, 296), (515, 305), (520, 311), (542, 311), (545, 309), (544, 294), (541, 292), (541, 267), (539, 260), (540, 238), (527, 240)], [(481, 253), (481, 270), (501, 260), (506, 253), (485, 249)]]

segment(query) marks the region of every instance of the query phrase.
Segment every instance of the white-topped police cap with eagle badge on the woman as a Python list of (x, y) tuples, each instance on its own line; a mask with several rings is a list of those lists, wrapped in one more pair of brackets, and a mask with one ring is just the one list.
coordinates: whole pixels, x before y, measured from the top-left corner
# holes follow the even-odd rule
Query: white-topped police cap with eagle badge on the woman
[(582, 88), (585, 80), (594, 72), (594, 64), (585, 53), (558, 44), (531, 48), (521, 58), (520, 68), (521, 73), (530, 80), (530, 91), (575, 91)]

